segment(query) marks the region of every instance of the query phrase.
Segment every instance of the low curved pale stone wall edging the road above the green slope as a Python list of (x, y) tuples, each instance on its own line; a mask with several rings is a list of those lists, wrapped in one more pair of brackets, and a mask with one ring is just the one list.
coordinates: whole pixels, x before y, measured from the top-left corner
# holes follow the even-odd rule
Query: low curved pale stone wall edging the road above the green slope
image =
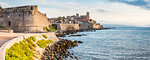
[[(20, 37), (17, 37), (17, 38), (14, 38), (8, 42), (6, 42), (5, 44), (3, 44), (1, 47), (0, 47), (0, 60), (5, 60), (5, 52), (7, 49), (9, 49), (13, 44), (15, 43), (18, 43), (19, 41), (22, 41), (24, 40), (24, 38), (28, 38), (30, 36), (35, 36), (35, 37), (40, 37), (42, 35), (47, 35), (47, 37), (51, 40), (53, 40), (54, 42), (57, 42), (59, 41), (59, 39), (56, 37), (55, 33), (54, 32), (50, 32), (50, 33), (29, 33), (29, 34), (25, 34), (24, 36), (20, 36)], [(43, 48), (43, 50), (45, 50)], [(42, 50), (39, 50), (40, 53), (42, 54), (44, 51)], [(41, 55), (40, 54), (40, 55)]]

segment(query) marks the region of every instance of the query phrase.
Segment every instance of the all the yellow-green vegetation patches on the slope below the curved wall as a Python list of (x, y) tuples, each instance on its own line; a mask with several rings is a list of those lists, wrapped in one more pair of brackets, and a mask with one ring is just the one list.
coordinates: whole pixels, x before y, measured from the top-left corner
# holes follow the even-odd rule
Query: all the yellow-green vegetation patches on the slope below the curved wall
[(49, 43), (53, 43), (53, 41), (42, 39), (36, 42), (35, 36), (30, 36), (28, 38), (25, 38), (23, 41), (20, 41), (19, 43), (15, 43), (9, 49), (7, 49), (5, 52), (5, 59), (6, 60), (34, 60), (33, 57), (38, 58), (36, 56), (38, 55), (35, 49), (36, 46), (44, 48)]

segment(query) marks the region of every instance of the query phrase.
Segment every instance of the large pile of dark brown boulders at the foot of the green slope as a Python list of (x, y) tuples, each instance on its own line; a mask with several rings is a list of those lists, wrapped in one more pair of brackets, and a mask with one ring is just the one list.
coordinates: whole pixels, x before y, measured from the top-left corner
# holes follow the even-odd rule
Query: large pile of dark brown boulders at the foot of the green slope
[(45, 52), (43, 53), (41, 60), (62, 60), (66, 58), (78, 60), (78, 57), (68, 51), (68, 49), (78, 46), (78, 43), (83, 42), (60, 39), (60, 41), (54, 43), (52, 46), (47, 46), (45, 48)]

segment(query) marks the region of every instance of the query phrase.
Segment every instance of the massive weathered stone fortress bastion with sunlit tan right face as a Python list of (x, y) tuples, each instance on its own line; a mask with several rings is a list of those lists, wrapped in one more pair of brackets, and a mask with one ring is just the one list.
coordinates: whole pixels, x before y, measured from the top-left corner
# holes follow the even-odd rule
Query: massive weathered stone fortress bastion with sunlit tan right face
[(0, 26), (14, 32), (44, 32), (43, 27), (50, 23), (47, 17), (35, 6), (4, 8), (0, 14)]

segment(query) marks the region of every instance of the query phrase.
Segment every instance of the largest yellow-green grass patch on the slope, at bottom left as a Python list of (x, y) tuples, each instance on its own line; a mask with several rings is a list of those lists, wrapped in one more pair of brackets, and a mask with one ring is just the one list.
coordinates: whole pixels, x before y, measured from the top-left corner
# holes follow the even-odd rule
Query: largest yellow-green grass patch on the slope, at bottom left
[[(33, 56), (36, 57), (36, 51), (30, 43), (26, 40), (15, 43), (6, 50), (5, 59), (6, 60), (34, 60)], [(37, 57), (36, 57), (37, 58)]]

